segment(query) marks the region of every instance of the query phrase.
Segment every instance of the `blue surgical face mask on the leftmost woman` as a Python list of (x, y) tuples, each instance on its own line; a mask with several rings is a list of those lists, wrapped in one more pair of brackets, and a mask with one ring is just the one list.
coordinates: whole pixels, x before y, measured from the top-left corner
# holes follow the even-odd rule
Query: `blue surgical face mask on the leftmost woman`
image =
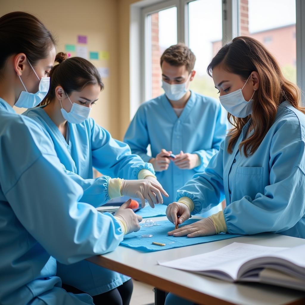
[(29, 63), (29, 65), (31, 66), (32, 70), (34, 71), (36, 77), (40, 81), (39, 88), (36, 93), (28, 92), (27, 88), (25, 88), (25, 85), (23, 84), (23, 81), (19, 75), (19, 79), (25, 90), (25, 91), (21, 91), (19, 98), (17, 99), (17, 102), (15, 103), (15, 106), (19, 107), (19, 108), (33, 108), (33, 107), (37, 106), (45, 98), (45, 96), (47, 95), (47, 93), (49, 91), (49, 87), (50, 87), (50, 77), (41, 77), (41, 79), (39, 79), (37, 73), (35, 72), (35, 70), (32, 67), (29, 60), (27, 60), (27, 62)]

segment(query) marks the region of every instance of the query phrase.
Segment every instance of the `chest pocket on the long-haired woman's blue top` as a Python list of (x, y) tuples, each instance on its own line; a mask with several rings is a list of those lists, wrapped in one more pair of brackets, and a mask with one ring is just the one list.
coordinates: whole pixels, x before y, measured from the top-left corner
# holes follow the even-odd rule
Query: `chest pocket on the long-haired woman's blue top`
[(257, 193), (263, 193), (263, 170), (263, 167), (237, 167), (234, 200), (240, 200), (244, 196), (250, 196), (253, 200)]

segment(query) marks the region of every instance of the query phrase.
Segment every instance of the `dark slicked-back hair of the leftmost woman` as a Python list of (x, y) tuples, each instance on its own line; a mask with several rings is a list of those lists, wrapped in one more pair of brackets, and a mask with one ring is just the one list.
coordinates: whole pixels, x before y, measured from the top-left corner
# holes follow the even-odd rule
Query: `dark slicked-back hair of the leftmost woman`
[(35, 16), (12, 12), (0, 17), (0, 73), (7, 58), (24, 53), (32, 65), (48, 57), (55, 39)]

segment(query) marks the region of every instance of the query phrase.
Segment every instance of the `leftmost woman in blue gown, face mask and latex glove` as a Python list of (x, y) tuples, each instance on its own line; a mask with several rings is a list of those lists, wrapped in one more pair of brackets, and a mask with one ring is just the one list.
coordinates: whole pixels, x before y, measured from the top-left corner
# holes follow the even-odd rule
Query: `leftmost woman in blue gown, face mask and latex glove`
[(92, 305), (88, 294), (62, 288), (56, 260), (72, 264), (114, 250), (139, 230), (141, 217), (129, 201), (114, 216), (81, 202), (83, 189), (64, 172), (45, 129), (12, 108), (34, 107), (47, 94), (50, 32), (13, 12), (0, 17), (0, 44), (0, 303)]

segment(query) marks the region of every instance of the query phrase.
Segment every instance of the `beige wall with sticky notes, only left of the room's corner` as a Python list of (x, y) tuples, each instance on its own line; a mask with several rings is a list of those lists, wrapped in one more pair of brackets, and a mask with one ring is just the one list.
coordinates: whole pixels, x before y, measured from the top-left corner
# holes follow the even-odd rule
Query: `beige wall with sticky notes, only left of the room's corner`
[[(87, 35), (89, 51), (109, 52), (109, 60), (91, 60), (95, 66), (109, 68), (109, 77), (103, 79), (105, 89), (92, 109), (91, 116), (108, 129), (113, 137), (120, 137), (118, 4), (118, 0), (0, 0), (0, 15), (20, 10), (38, 16), (57, 36), (57, 51), (64, 51), (65, 44), (77, 45), (77, 35)], [(72, 55), (75, 56), (75, 53)], [(22, 112), (22, 109), (16, 110)]]

